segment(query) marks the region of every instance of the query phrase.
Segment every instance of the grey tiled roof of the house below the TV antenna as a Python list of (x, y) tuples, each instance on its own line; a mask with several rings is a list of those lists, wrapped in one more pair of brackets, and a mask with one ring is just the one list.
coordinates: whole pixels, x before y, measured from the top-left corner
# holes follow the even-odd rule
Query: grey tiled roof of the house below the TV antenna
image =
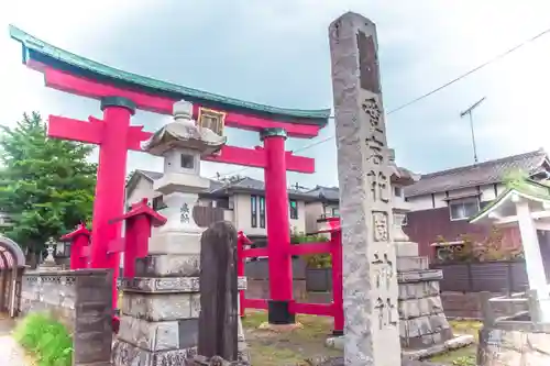
[(474, 165), (422, 175), (416, 184), (405, 187), (405, 197), (444, 192), (461, 188), (502, 182), (507, 174), (521, 170), (535, 175), (543, 170), (548, 156), (540, 148)]

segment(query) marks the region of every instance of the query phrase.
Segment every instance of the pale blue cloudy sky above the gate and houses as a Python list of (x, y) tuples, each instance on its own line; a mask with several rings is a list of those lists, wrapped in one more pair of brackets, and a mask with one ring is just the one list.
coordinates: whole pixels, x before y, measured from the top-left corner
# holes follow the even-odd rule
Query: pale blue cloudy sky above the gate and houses
[[(386, 110), (550, 27), (550, 2), (495, 1), (26, 1), (0, 5), (0, 123), (38, 110), (86, 119), (100, 117), (97, 101), (50, 90), (42, 76), (21, 65), (8, 24), (56, 46), (129, 71), (193, 88), (278, 107), (332, 106), (328, 25), (345, 11), (378, 26)], [(475, 112), (481, 160), (544, 147), (550, 35), (492, 64), (443, 91), (387, 117), (397, 163), (418, 173), (473, 163), (470, 129), (461, 110), (486, 97)], [(139, 112), (133, 124), (158, 129), (166, 117)], [(228, 129), (229, 143), (252, 147), (256, 133)], [(333, 134), (333, 124), (319, 140)], [(289, 140), (289, 149), (315, 141)], [(333, 140), (300, 154), (317, 159), (315, 175), (288, 181), (337, 185)], [(128, 169), (161, 170), (160, 158), (131, 153)], [(205, 163), (204, 175), (240, 167)], [(239, 171), (262, 178), (258, 169)]]

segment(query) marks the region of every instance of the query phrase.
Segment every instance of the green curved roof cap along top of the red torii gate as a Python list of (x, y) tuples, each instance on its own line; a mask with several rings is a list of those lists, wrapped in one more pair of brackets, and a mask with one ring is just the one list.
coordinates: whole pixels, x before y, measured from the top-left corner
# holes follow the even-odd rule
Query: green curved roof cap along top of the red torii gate
[(301, 110), (258, 104), (119, 70), (57, 48), (13, 25), (10, 25), (10, 36), (21, 42), (23, 46), (24, 64), (30, 59), (35, 59), (57, 69), (96, 79), (108, 80), (112, 84), (124, 85), (133, 87), (134, 89), (138, 88), (153, 95), (172, 95), (176, 98), (179, 97), (190, 99), (191, 101), (202, 101), (207, 104), (224, 107), (229, 110), (245, 110), (254, 111), (260, 114), (272, 114), (283, 118), (287, 122), (324, 126), (330, 117), (330, 109)]

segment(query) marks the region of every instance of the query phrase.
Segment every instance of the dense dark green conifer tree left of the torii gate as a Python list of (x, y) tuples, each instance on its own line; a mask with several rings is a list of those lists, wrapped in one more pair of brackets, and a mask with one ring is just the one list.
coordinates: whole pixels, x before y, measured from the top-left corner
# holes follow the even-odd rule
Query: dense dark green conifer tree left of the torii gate
[(48, 138), (37, 112), (23, 114), (14, 127), (0, 130), (0, 209), (13, 225), (2, 232), (30, 253), (40, 253), (80, 221), (89, 221), (96, 164), (92, 146)]

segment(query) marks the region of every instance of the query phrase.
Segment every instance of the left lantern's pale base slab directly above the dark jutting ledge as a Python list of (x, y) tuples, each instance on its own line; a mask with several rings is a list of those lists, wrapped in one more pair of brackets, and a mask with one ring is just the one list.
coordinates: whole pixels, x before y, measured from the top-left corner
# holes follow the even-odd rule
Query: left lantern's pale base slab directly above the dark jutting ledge
[(198, 254), (153, 254), (135, 260), (135, 277), (195, 277), (199, 273)]

